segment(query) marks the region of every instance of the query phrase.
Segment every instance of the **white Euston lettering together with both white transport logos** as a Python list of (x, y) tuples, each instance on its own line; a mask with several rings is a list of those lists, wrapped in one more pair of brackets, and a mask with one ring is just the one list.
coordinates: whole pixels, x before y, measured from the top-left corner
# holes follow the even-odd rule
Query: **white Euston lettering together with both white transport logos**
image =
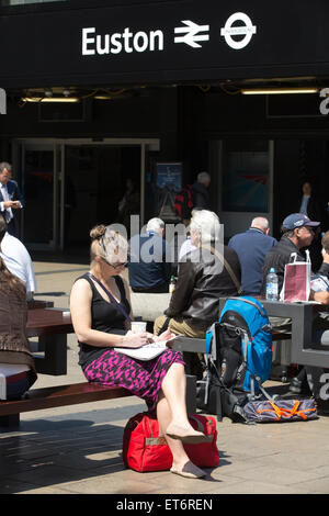
[[(241, 22), (238, 26), (235, 22)], [(183, 25), (174, 27), (172, 37), (174, 44), (184, 44), (191, 48), (201, 48), (201, 42), (208, 42), (209, 26), (198, 25), (192, 20), (182, 20)], [(236, 12), (229, 16), (225, 26), (220, 30), (220, 35), (231, 48), (239, 51), (245, 48), (251, 41), (257, 29), (252, 25), (250, 18), (243, 12)], [(178, 35), (180, 34), (180, 35)], [(183, 35), (181, 35), (183, 34)], [(242, 40), (236, 40), (235, 36), (243, 35)], [(98, 34), (95, 27), (82, 29), (82, 55), (116, 55), (122, 52), (131, 54), (132, 52), (162, 52), (164, 49), (164, 32), (156, 29), (148, 32), (132, 32), (125, 27), (121, 33)]]

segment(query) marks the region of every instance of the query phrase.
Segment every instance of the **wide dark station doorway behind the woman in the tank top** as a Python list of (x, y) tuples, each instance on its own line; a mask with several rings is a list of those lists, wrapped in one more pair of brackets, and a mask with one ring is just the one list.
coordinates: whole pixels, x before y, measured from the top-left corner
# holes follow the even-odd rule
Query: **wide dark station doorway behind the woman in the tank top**
[(13, 167), (25, 203), (20, 236), (26, 247), (86, 249), (94, 225), (117, 221), (128, 178), (138, 191), (143, 224), (146, 155), (158, 148), (158, 141), (15, 141)]

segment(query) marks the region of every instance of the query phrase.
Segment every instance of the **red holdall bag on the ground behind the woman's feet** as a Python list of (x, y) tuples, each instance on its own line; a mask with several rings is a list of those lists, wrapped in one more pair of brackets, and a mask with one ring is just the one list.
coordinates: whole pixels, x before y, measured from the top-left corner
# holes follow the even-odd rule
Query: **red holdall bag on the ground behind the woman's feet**
[[(193, 414), (189, 420), (194, 429), (208, 436), (205, 442), (183, 445), (191, 461), (200, 468), (218, 465), (216, 422), (212, 416)], [(124, 429), (123, 460), (127, 468), (135, 471), (170, 470), (172, 455), (155, 414), (143, 412), (132, 417)]]

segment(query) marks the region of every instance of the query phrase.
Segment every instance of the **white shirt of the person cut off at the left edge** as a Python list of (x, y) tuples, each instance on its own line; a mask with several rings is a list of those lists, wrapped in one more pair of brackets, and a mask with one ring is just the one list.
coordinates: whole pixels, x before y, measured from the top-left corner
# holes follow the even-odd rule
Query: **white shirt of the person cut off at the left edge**
[(36, 292), (36, 280), (31, 257), (24, 244), (19, 238), (5, 233), (1, 244), (0, 256), (7, 268), (14, 276), (18, 276), (26, 285), (29, 292)]

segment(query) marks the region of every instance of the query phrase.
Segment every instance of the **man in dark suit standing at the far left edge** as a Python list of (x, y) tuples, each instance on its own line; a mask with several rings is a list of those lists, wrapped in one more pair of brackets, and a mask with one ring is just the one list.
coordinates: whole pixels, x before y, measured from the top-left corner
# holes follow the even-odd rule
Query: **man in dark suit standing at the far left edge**
[(0, 212), (7, 222), (8, 233), (19, 236), (16, 210), (23, 207), (23, 197), (16, 181), (11, 179), (11, 165), (0, 162)]

